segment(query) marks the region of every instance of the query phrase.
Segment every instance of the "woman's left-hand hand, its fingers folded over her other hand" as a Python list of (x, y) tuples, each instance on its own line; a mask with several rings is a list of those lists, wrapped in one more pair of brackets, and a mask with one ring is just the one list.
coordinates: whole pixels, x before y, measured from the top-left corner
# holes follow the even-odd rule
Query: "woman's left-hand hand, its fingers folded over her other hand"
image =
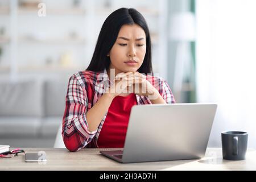
[(133, 90), (129, 90), (129, 86), (132, 86), (135, 81), (141, 78), (146, 78), (146, 76), (138, 72), (118, 73), (113, 80), (114, 84), (110, 85), (106, 93), (109, 93), (112, 97), (123, 93), (133, 93)]

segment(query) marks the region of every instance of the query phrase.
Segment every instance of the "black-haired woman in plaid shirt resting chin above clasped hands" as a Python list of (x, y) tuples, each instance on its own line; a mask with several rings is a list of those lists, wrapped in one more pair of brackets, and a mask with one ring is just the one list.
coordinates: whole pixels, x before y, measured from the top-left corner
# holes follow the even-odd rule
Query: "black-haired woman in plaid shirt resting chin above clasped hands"
[(135, 9), (114, 11), (89, 67), (69, 79), (62, 131), (68, 150), (123, 147), (133, 105), (175, 103), (167, 82), (151, 75), (146, 20)]

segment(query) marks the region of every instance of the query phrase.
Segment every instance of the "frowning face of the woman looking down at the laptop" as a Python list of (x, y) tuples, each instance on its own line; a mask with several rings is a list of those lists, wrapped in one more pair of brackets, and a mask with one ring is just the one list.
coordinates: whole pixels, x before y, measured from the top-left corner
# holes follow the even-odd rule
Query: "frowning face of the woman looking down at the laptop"
[[(137, 24), (121, 27), (117, 40), (109, 52), (110, 69), (115, 75), (120, 72), (134, 72), (141, 67), (146, 54), (146, 34)], [(127, 62), (131, 61), (131, 62)]]

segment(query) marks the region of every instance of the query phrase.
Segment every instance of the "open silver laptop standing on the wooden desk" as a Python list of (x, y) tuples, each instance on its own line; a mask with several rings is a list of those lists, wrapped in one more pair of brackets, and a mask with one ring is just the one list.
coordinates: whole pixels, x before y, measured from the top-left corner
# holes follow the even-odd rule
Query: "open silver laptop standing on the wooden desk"
[(216, 109), (216, 104), (135, 105), (123, 150), (100, 153), (120, 163), (203, 158)]

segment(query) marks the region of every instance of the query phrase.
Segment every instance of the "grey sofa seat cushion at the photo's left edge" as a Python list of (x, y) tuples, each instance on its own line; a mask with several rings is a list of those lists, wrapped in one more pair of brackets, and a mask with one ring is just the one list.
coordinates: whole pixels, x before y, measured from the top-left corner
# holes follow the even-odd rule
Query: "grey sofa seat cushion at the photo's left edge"
[(37, 137), (40, 118), (0, 117), (0, 137)]

